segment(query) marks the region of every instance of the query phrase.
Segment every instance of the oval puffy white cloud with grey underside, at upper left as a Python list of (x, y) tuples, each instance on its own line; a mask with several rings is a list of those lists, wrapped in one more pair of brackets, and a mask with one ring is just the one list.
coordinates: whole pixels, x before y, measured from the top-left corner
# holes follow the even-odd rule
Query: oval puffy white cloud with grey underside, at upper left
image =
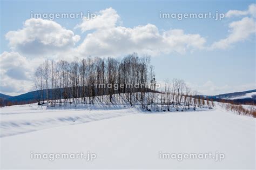
[(5, 38), (9, 40), (11, 50), (35, 56), (68, 50), (78, 42), (80, 36), (54, 21), (31, 18), (25, 21), (21, 30), (9, 31)]

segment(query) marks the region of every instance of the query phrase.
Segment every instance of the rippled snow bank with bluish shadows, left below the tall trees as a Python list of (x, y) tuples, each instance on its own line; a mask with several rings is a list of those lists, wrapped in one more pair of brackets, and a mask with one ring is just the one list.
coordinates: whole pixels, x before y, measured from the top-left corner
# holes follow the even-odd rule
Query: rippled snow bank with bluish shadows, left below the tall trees
[[(28, 133), (45, 128), (76, 125), (134, 113), (129, 105), (84, 105), (72, 104), (59, 107), (38, 106), (37, 104), (16, 105), (0, 108), (0, 137)], [(137, 110), (139, 111), (139, 110)]]

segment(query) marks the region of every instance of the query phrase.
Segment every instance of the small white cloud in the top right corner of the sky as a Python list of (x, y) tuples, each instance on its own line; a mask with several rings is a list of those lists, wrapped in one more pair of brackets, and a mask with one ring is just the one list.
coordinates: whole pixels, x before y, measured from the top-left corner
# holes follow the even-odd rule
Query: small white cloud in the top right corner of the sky
[(248, 6), (248, 10), (246, 11), (240, 11), (240, 10), (229, 10), (226, 13), (226, 17), (238, 17), (238, 16), (246, 16), (251, 15), (252, 17), (256, 17), (256, 4), (251, 4)]

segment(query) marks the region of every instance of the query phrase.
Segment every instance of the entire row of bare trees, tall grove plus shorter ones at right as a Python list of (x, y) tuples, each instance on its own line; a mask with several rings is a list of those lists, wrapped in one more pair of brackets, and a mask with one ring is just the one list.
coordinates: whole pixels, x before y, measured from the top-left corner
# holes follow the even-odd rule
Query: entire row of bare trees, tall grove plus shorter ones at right
[(139, 103), (148, 111), (170, 111), (171, 106), (177, 111), (178, 107), (186, 111), (190, 107), (196, 110), (214, 106), (213, 101), (195, 98), (197, 92), (181, 79), (166, 80), (161, 91), (157, 89), (150, 57), (139, 57), (136, 53), (119, 59), (87, 57), (74, 58), (72, 62), (46, 59), (36, 69), (35, 88), (38, 104), (46, 101), (48, 106), (94, 104), (96, 98), (107, 104), (116, 99), (126, 100), (131, 106)]

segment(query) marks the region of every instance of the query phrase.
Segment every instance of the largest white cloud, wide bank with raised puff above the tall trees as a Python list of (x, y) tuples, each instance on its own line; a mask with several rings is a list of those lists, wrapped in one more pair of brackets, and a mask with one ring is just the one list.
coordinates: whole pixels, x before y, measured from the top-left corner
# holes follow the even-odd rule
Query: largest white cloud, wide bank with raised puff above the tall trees
[(109, 8), (99, 12), (90, 21), (83, 20), (76, 26), (82, 32), (95, 30), (86, 35), (77, 47), (80, 56), (118, 56), (137, 52), (151, 56), (159, 53), (185, 53), (187, 50), (203, 49), (205, 38), (199, 34), (186, 34), (183, 30), (159, 32), (156, 25), (139, 25), (134, 28), (116, 26), (119, 19), (116, 10)]

